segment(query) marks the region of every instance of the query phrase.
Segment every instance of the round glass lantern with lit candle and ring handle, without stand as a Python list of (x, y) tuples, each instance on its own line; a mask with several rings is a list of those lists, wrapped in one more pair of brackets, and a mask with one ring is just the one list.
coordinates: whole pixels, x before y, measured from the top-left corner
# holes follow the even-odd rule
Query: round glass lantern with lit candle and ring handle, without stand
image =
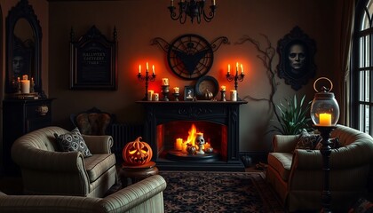
[[(316, 83), (321, 79), (329, 81), (330, 89), (323, 86), (320, 92), (316, 90)], [(333, 89), (333, 83), (328, 78), (321, 77), (313, 83), (313, 89), (317, 91), (314, 94), (310, 110), (313, 124), (316, 126), (335, 126), (339, 119), (339, 106), (334, 93), (329, 92)]]

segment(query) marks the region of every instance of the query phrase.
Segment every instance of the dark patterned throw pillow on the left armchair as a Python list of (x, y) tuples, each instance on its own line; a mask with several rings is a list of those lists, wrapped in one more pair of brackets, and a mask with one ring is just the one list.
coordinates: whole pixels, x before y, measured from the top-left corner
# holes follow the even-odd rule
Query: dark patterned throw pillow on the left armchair
[(81, 152), (84, 157), (90, 157), (92, 155), (88, 146), (85, 144), (82, 134), (77, 128), (63, 135), (54, 133), (54, 137), (56, 137), (60, 149), (63, 152)]

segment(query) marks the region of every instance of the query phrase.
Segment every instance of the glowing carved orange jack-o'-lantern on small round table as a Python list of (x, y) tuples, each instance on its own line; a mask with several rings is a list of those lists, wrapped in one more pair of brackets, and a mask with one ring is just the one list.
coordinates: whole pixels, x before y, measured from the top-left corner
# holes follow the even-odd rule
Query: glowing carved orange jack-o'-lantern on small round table
[(122, 154), (126, 164), (134, 166), (143, 165), (152, 159), (152, 148), (146, 142), (141, 142), (140, 139), (141, 137), (124, 146)]

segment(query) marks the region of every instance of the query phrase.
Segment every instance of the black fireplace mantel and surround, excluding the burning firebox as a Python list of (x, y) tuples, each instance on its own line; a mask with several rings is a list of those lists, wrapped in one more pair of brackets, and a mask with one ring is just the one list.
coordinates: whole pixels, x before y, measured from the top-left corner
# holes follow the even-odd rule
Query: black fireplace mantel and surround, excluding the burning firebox
[[(239, 158), (240, 106), (247, 101), (137, 101), (144, 106), (146, 122), (144, 140), (153, 149), (153, 161), (168, 170), (244, 170)], [(206, 121), (226, 125), (226, 161), (214, 163), (170, 162), (160, 157), (157, 125), (174, 121)]]

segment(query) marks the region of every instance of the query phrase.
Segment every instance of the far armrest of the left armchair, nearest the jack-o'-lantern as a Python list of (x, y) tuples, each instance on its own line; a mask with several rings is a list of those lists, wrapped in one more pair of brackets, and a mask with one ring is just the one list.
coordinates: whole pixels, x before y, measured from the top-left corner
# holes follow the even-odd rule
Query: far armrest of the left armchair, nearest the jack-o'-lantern
[(91, 136), (82, 135), (85, 144), (91, 151), (91, 154), (110, 154), (113, 146), (113, 138), (108, 135)]

